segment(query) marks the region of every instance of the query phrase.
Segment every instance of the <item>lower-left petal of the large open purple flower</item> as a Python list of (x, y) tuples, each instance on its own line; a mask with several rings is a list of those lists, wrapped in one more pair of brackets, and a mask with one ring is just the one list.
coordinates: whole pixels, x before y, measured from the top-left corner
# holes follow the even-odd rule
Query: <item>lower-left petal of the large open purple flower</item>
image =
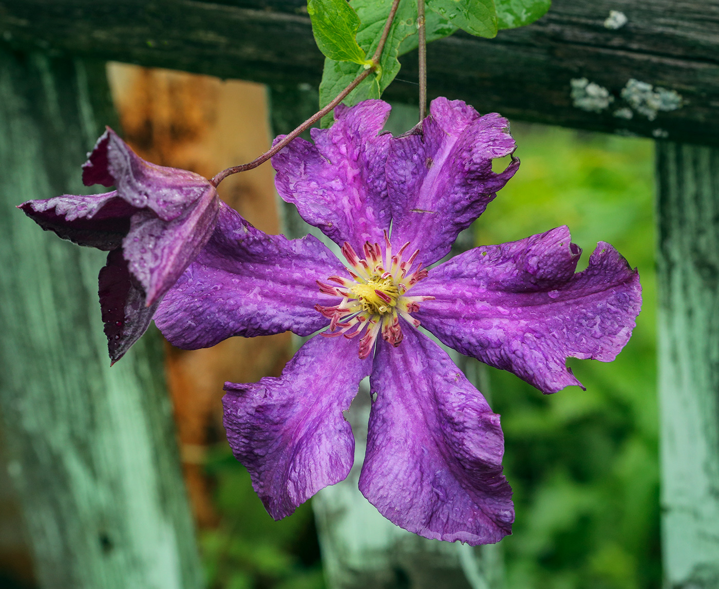
[(224, 426), (267, 512), (281, 519), (314, 493), (347, 478), (354, 462), (349, 409), (372, 360), (357, 342), (313, 337), (280, 378), (225, 383)]

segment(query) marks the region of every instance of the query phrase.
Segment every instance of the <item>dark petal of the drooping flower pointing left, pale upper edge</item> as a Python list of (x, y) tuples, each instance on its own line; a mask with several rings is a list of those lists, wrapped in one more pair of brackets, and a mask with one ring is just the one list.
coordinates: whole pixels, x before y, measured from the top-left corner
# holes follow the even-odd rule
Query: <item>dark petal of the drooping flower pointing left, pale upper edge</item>
[(122, 245), (130, 229), (130, 217), (137, 210), (117, 196), (117, 191), (88, 196), (64, 194), (27, 201), (18, 208), (46, 231), (104, 251), (116, 250)]

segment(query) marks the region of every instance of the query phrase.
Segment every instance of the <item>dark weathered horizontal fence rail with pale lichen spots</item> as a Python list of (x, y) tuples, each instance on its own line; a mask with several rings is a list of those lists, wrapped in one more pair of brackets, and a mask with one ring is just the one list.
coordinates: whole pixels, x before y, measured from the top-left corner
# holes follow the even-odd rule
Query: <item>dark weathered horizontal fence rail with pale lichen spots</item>
[[(317, 83), (322, 56), (303, 4), (0, 0), (0, 36), (22, 48)], [(610, 10), (623, 12), (626, 24), (605, 27)], [(415, 80), (413, 55), (403, 63), (400, 78)], [(600, 111), (574, 106), (571, 81), (582, 78), (606, 88), (612, 101)], [(631, 79), (676, 91), (681, 106), (650, 119), (621, 97)], [(429, 89), (516, 119), (719, 145), (719, 0), (554, 0), (539, 22), (495, 40), (459, 33), (431, 44)], [(639, 103), (657, 98), (636, 88), (634, 96)], [(667, 96), (670, 103), (674, 95)], [(416, 86), (397, 82), (388, 97), (414, 102)], [(594, 102), (602, 106), (602, 96)]]

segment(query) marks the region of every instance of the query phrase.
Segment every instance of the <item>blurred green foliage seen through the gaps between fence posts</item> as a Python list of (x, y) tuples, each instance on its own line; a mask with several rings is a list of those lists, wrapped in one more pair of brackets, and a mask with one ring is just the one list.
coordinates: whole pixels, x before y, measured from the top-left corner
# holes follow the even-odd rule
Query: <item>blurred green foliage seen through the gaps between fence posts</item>
[[(501, 544), (507, 586), (656, 588), (653, 142), (539, 125), (512, 131), (522, 163), (477, 222), (477, 245), (567, 224), (585, 251), (580, 268), (600, 239), (639, 268), (644, 307), (615, 362), (569, 362), (587, 391), (543, 396), (491, 370), (490, 404), (502, 415), (517, 515)], [(218, 449), (208, 467), (223, 517), (201, 538), (210, 588), (323, 588), (309, 505), (275, 522), (229, 449)]]

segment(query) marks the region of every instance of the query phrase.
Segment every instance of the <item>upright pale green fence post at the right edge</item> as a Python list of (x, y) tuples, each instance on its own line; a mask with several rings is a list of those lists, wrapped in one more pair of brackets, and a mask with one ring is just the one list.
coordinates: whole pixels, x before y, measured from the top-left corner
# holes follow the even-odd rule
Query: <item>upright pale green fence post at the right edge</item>
[(667, 588), (719, 587), (719, 150), (656, 145)]

